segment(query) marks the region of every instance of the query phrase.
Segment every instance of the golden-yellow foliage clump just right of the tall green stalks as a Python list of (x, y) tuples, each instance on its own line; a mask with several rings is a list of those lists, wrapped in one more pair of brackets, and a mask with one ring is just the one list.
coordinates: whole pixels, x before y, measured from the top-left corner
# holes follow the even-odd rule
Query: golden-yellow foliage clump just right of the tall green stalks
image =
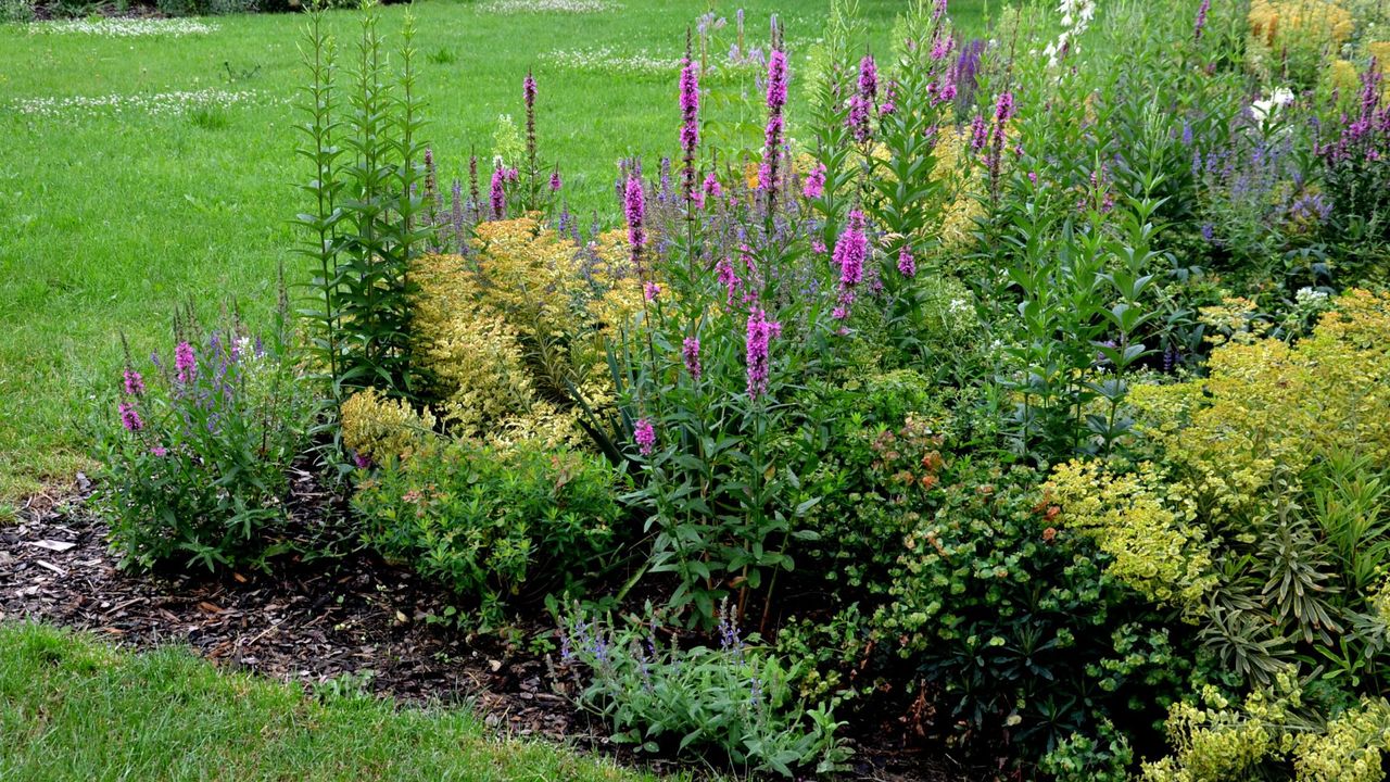
[(580, 249), (525, 217), (478, 225), (467, 259), (416, 262), (416, 335), (456, 434), (577, 442), (571, 390), (591, 405), (612, 397), (603, 340), (641, 289), (617, 234)]

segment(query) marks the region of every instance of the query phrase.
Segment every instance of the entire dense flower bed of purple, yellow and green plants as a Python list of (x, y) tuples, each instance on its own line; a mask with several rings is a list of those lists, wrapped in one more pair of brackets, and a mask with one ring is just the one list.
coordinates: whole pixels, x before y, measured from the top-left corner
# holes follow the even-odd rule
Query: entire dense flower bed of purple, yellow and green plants
[[(724, 71), (702, 18), (673, 154), (592, 224), (546, 85), (445, 186), (413, 32), (343, 74), (311, 17), (295, 366), (361, 540), (466, 629), (545, 607), (644, 751), (831, 774), (887, 722), (1027, 778), (1379, 778), (1384, 10), (1063, 0), (962, 40), (913, 3), (876, 58), (849, 6), (806, 58), (739, 19)], [(716, 143), (739, 79), (764, 120)], [(113, 498), (170, 480), (126, 397)], [(190, 512), (272, 552), (277, 486), (200, 442)], [(115, 506), (133, 562), (220, 561)]]

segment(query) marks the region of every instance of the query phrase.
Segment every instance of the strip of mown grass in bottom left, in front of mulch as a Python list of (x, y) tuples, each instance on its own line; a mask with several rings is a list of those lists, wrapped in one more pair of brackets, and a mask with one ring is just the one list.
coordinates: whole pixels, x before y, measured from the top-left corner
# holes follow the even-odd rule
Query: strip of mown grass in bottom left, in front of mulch
[(0, 625), (0, 779), (637, 781), (613, 763), (489, 737), (461, 710), (220, 672), (182, 650), (117, 651)]

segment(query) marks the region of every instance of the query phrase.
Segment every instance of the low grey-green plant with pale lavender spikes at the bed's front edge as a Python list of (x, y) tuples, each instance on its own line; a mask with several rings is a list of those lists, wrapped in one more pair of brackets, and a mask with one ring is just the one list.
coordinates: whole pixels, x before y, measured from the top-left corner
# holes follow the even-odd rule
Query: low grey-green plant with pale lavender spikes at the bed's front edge
[(796, 672), (745, 641), (727, 607), (717, 647), (660, 640), (651, 611), (642, 621), (562, 618), (562, 661), (588, 668), (580, 701), (613, 725), (614, 740), (788, 778), (831, 774), (849, 756), (834, 703), (805, 704), (791, 686)]

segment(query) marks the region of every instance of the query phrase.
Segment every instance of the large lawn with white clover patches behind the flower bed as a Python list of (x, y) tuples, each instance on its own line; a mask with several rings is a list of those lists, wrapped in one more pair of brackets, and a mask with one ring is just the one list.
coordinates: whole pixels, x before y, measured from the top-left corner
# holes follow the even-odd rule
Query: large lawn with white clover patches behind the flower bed
[[(489, 154), (499, 114), (520, 120), (521, 77), (535, 68), (545, 157), (562, 163), (580, 212), (602, 206), (612, 214), (614, 161), (674, 147), (676, 74), (617, 74), (553, 53), (609, 49), (674, 60), (687, 25), (710, 6), (627, 0), (595, 14), (500, 15), (459, 0), (414, 4), (427, 135), (442, 178), (464, 174), (471, 149)], [(766, 38), (780, 11), (792, 45), (805, 47), (820, 33), (828, 0), (713, 6), (731, 21), (746, 8), (751, 42)], [(952, 6), (962, 29), (980, 26), (983, 0)], [(860, 1), (876, 46), (898, 8), (895, 0)], [(388, 7), (382, 29), (395, 35), (404, 13)], [(172, 309), (183, 301), (210, 316), (235, 298), (254, 323), (275, 301), (279, 264), (292, 281), (303, 276), (288, 223), (299, 206), (293, 185), (304, 175), (292, 129), (303, 18), (206, 21), (215, 32), (183, 38), (36, 35), (0, 25), (0, 518), (6, 502), (83, 468), (81, 423), (114, 387), (122, 334), (136, 355), (165, 346)], [(356, 24), (349, 11), (329, 14), (345, 46)], [(726, 31), (721, 47), (730, 42)], [(17, 110), (32, 99), (207, 88), (250, 90), (254, 99), (158, 115)], [(733, 118), (737, 104), (713, 109), (713, 118)]]

